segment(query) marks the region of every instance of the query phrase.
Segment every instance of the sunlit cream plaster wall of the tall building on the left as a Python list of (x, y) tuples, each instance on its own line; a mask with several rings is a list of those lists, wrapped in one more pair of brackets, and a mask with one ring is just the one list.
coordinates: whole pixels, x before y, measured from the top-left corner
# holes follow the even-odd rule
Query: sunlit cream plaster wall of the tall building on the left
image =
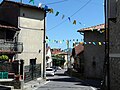
[[(29, 65), (30, 59), (34, 58), (37, 58), (37, 64), (42, 63), (44, 30), (41, 29), (44, 29), (43, 12), (36, 9), (21, 8), (18, 20), (18, 26), (21, 29), (18, 41), (23, 42), (23, 52), (18, 54), (18, 59), (25, 60), (25, 65)], [(39, 50), (41, 50), (40, 53)]]

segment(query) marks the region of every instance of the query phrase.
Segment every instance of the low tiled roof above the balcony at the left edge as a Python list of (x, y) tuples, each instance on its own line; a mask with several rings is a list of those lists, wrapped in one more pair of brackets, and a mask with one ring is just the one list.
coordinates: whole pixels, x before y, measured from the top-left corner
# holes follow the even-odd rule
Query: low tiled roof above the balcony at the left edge
[(11, 30), (15, 30), (15, 31), (20, 30), (19, 28), (14, 27), (14, 26), (12, 26), (6, 22), (3, 22), (3, 21), (0, 21), (0, 29), (11, 29)]

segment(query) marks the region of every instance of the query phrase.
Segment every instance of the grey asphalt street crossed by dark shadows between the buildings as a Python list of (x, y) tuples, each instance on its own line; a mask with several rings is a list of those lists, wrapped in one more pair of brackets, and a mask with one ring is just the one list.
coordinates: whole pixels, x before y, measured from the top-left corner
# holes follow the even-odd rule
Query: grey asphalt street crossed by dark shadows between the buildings
[(99, 85), (96, 81), (82, 81), (71, 78), (64, 75), (64, 71), (59, 70), (54, 77), (47, 77), (47, 83), (37, 90), (98, 90)]

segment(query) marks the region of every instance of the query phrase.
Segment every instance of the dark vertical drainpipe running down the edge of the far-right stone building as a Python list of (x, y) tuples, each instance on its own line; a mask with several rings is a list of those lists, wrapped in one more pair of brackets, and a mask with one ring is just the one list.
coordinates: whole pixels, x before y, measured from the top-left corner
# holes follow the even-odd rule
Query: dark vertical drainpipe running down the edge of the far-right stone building
[(105, 10), (105, 85), (107, 86), (107, 90), (110, 90), (110, 67), (109, 67), (109, 22), (107, 18), (107, 9), (108, 9), (109, 0), (104, 0), (104, 10)]

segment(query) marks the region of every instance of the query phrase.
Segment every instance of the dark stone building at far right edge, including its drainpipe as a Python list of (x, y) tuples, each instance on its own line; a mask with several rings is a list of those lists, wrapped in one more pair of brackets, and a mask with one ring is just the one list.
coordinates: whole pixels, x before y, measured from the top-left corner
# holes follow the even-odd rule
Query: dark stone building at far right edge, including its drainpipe
[(109, 42), (107, 90), (120, 90), (120, 0), (105, 0), (105, 2)]

